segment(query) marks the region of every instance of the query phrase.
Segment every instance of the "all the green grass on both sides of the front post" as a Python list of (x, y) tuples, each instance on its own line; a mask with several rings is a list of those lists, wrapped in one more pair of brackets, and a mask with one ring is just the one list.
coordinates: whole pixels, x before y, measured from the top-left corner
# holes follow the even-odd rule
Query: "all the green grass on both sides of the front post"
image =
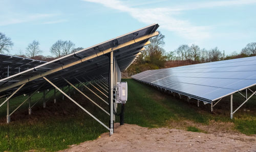
[[(191, 121), (205, 126), (214, 122), (232, 123), (234, 131), (251, 135), (256, 134), (255, 97), (246, 103), (234, 119), (229, 119), (229, 99), (223, 99), (215, 107), (214, 113), (209, 112), (209, 105), (196, 102), (186, 102), (162, 93), (152, 86), (147, 86), (133, 79), (123, 79), (128, 82), (129, 97), (125, 104), (124, 122), (138, 124), (144, 127), (179, 127), (183, 121)], [(86, 92), (87, 93), (87, 92)], [(53, 93), (49, 92), (47, 98)], [(89, 93), (87, 93), (89, 94)], [(40, 99), (41, 94), (33, 96), (32, 101)], [(109, 118), (99, 108), (93, 106), (87, 99), (77, 92), (73, 95), (76, 101), (86, 107), (106, 125)], [(91, 95), (90, 95), (91, 97)], [(10, 100), (11, 111), (21, 103), (25, 97)], [(241, 102), (238, 95), (236, 102)], [(0, 103), (2, 100), (0, 100)], [(32, 103), (33, 103), (32, 102)], [(100, 102), (97, 100), (97, 102)], [(107, 110), (108, 107), (105, 107)], [(120, 108), (119, 108), (120, 110)], [(117, 118), (118, 121), (118, 118)], [(47, 108), (38, 103), (28, 115), (28, 104), (24, 104), (11, 116), (11, 123), (6, 124), (6, 107), (0, 108), (0, 151), (56, 151), (68, 148), (68, 145), (78, 144), (86, 140), (96, 139), (101, 133), (108, 132), (98, 122), (81, 111), (74, 103), (58, 96), (57, 103), (47, 102)], [(173, 124), (173, 125), (170, 125)], [(193, 124), (186, 126), (187, 131), (204, 132)]]

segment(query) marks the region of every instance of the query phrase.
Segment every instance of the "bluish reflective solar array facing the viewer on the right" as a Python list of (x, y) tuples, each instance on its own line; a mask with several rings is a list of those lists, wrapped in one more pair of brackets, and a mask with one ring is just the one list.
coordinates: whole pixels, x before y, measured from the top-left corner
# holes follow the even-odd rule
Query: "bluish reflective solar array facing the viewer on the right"
[(210, 103), (256, 85), (256, 56), (148, 70), (132, 78)]

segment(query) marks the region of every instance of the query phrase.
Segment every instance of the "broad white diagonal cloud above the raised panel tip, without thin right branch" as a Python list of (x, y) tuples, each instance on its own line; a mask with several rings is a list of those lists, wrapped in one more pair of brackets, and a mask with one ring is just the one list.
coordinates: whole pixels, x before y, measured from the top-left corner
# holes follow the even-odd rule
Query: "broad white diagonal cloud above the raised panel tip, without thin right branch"
[(187, 39), (200, 40), (210, 37), (210, 34), (208, 32), (210, 27), (194, 26), (191, 25), (187, 20), (177, 19), (176, 17), (174, 17), (174, 15), (177, 14), (177, 12), (173, 12), (168, 8), (139, 9), (129, 7), (118, 0), (83, 1), (102, 4), (108, 8), (129, 13), (131, 16), (145, 24), (158, 23), (161, 26), (161, 28), (178, 33), (180, 36), (185, 37)]

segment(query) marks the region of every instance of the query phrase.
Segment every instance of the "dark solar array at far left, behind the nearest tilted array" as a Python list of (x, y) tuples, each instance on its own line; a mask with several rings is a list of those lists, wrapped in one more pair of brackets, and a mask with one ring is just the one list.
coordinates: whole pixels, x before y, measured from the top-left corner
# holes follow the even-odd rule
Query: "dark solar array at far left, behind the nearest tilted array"
[(46, 61), (0, 54), (0, 79), (34, 68), (43, 63), (46, 63)]

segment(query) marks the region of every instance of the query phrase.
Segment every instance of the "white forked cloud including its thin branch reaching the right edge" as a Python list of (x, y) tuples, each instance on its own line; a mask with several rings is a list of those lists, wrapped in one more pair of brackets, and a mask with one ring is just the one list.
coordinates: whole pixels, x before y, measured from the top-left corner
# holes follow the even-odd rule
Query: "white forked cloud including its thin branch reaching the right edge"
[(232, 0), (232, 1), (212, 1), (212, 2), (197, 2), (186, 3), (186, 5), (172, 8), (148, 8), (141, 9), (131, 7), (127, 3), (120, 0), (83, 0), (86, 2), (98, 3), (105, 7), (129, 13), (135, 19), (145, 24), (158, 23), (161, 28), (175, 32), (180, 36), (194, 40), (195, 42), (202, 41), (211, 37), (210, 29), (212, 26), (197, 26), (192, 25), (188, 20), (181, 20), (177, 14), (185, 10), (227, 7), (236, 5), (248, 5), (256, 3), (256, 0)]

